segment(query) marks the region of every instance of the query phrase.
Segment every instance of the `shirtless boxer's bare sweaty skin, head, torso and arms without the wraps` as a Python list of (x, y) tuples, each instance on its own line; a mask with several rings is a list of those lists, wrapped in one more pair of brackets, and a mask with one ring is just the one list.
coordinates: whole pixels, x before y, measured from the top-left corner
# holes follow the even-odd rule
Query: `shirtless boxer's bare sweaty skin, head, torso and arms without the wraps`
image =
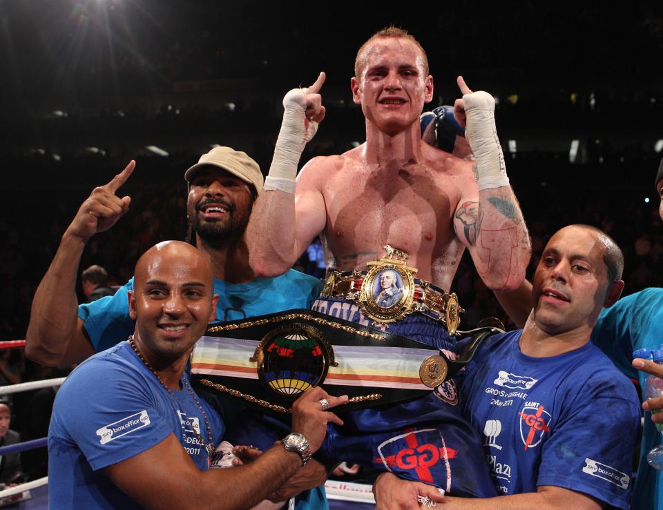
[[(530, 243), (510, 186), (479, 192), (471, 161), (421, 140), (419, 115), (433, 92), (421, 50), (384, 37), (367, 46), (360, 63), (351, 86), (367, 141), (311, 159), (294, 199), (281, 190), (262, 194), (247, 228), (253, 270), (287, 271), (320, 234), (328, 268), (365, 270), (390, 244), (410, 255), (417, 277), (448, 290), (468, 248), (488, 287), (517, 288)], [(320, 86), (318, 79), (309, 88), (307, 104), (309, 95), (319, 98)], [(459, 86), (471, 93), (461, 79)]]

